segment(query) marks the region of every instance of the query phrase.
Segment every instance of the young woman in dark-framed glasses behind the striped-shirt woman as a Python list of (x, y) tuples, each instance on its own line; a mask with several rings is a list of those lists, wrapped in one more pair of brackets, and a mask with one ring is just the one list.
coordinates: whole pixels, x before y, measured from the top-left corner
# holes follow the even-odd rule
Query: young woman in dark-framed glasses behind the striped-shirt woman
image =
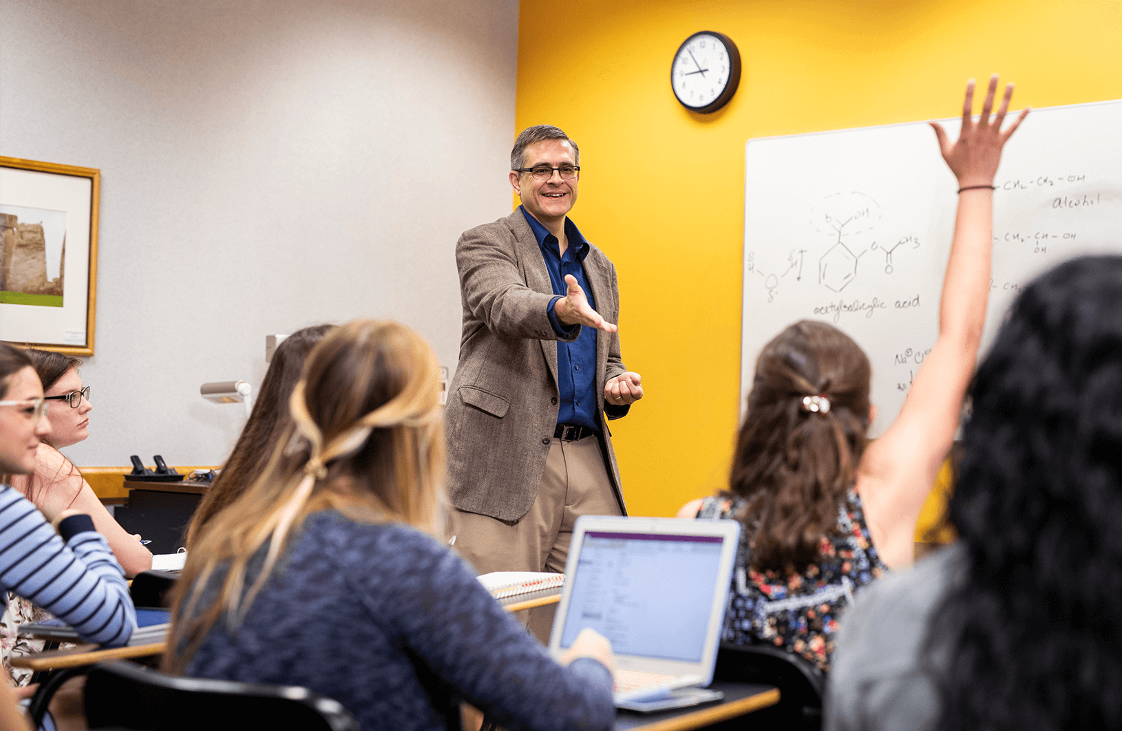
[(140, 544), (140, 536), (121, 528), (74, 463), (59, 452), (90, 436), (93, 405), (90, 404), (90, 387), (83, 386), (79, 374), (82, 361), (34, 348), (24, 352), (43, 382), (45, 402), (50, 405), (47, 411), (50, 434), (36, 450), (35, 472), (17, 476), (11, 487), (43, 511), (73, 508), (93, 518), (94, 527), (109, 542), (126, 575), (135, 576), (151, 568), (151, 554)]

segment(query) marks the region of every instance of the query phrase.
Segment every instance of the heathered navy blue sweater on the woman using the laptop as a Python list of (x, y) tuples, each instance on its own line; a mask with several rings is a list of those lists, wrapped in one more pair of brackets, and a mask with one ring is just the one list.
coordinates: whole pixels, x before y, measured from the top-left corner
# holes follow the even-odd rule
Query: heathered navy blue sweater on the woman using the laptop
[[(247, 586), (264, 556), (250, 562)], [(459, 728), (460, 700), (508, 731), (608, 729), (615, 720), (607, 669), (550, 659), (448, 548), (334, 511), (305, 521), (242, 624), (231, 632), (223, 616), (187, 675), (303, 685), (342, 703), (367, 731)]]

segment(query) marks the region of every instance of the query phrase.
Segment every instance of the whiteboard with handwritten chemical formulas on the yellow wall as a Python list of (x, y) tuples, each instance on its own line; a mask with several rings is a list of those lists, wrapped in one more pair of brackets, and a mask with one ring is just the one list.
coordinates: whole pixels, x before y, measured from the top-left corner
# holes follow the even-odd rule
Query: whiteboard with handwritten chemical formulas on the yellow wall
[[(944, 120), (951, 139), (959, 123)], [(744, 156), (741, 408), (767, 341), (822, 320), (872, 361), (875, 436), (938, 335), (957, 184), (935, 133), (914, 122), (757, 138)], [(1033, 276), (1075, 255), (1122, 252), (1122, 101), (1033, 110), (994, 183), (983, 352)]]

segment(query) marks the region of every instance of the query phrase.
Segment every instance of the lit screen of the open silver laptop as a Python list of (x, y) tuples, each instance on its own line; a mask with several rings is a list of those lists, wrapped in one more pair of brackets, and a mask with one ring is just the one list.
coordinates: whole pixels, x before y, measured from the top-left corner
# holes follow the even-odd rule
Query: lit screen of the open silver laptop
[(618, 655), (700, 661), (720, 558), (719, 536), (589, 530), (560, 646), (590, 627)]

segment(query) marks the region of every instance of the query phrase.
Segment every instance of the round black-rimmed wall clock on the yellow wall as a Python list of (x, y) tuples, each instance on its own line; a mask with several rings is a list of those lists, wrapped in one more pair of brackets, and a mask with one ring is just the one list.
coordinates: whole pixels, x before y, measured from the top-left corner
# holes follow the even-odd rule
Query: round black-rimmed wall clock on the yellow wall
[(741, 83), (741, 52), (723, 33), (702, 30), (687, 38), (670, 66), (670, 86), (686, 109), (707, 114), (733, 98)]

